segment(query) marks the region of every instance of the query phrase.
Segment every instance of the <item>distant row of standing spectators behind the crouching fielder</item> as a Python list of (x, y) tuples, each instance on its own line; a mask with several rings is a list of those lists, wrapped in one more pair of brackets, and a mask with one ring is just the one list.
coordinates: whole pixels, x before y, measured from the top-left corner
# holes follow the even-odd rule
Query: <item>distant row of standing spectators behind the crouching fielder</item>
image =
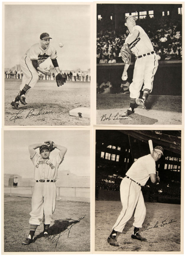
[[(51, 77), (53, 80), (55, 80), (55, 73), (53, 70), (48, 70), (50, 73), (49, 75), (44, 75), (41, 72), (38, 72), (39, 80), (51, 80)], [(60, 71), (62, 73), (62, 71)], [(67, 72), (67, 73), (62, 73), (66, 77), (66, 81), (83, 81), (83, 82), (88, 82), (90, 81), (90, 74), (88, 72), (81, 72), (78, 71), (77, 73), (74, 71), (73, 73)], [(22, 70), (18, 71), (12, 71), (11, 69), (9, 71), (4, 71), (4, 78), (11, 78), (11, 79), (22, 79), (23, 77), (23, 72)]]

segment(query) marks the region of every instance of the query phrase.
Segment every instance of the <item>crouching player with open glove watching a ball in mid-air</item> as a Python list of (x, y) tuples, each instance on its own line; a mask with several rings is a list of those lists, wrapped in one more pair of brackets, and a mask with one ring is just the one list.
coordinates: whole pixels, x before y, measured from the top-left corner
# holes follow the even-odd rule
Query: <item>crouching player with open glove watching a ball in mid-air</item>
[(66, 82), (66, 79), (59, 70), (57, 63), (57, 53), (53, 46), (50, 45), (50, 39), (52, 39), (48, 33), (42, 33), (40, 35), (40, 42), (34, 44), (26, 51), (26, 54), (22, 56), (20, 60), (20, 66), (24, 73), (22, 84), (20, 85), (20, 92), (11, 102), (12, 107), (19, 108), (19, 101), (23, 105), (26, 105), (25, 94), (30, 88), (33, 88), (38, 81), (38, 72), (40, 71), (44, 75), (50, 75), (50, 72), (43, 68), (40, 68), (40, 64), (43, 63), (48, 57), (51, 58), (52, 64), (57, 71), (56, 83), (59, 87)]

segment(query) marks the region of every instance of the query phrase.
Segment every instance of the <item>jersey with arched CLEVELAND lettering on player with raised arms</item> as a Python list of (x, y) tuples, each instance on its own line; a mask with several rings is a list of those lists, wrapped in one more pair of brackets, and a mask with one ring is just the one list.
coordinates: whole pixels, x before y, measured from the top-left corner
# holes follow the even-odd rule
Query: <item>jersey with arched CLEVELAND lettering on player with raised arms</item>
[(34, 179), (35, 180), (56, 180), (58, 167), (62, 163), (64, 157), (62, 158), (60, 152), (51, 159), (43, 159), (37, 152), (34, 156), (30, 156), (31, 161), (34, 165)]

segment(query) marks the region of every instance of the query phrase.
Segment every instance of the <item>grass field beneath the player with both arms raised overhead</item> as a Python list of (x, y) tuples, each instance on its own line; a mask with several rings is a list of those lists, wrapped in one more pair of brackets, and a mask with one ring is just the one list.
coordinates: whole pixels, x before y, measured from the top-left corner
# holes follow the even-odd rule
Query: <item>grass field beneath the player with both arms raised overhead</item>
[(4, 252), (88, 252), (90, 251), (90, 204), (56, 201), (48, 233), (43, 223), (35, 232), (34, 243), (22, 245), (29, 234), (31, 198), (4, 197)]

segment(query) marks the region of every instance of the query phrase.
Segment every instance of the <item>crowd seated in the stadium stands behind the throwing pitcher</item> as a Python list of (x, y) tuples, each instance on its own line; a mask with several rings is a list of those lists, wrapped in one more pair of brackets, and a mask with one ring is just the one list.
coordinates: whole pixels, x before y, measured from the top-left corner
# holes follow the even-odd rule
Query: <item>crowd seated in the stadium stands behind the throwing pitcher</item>
[[(182, 16), (163, 16), (136, 21), (149, 36), (158, 60), (182, 59)], [(115, 31), (111, 21), (97, 21), (97, 63), (121, 63), (120, 49), (129, 34), (126, 26)], [(132, 62), (135, 56), (132, 54)]]

